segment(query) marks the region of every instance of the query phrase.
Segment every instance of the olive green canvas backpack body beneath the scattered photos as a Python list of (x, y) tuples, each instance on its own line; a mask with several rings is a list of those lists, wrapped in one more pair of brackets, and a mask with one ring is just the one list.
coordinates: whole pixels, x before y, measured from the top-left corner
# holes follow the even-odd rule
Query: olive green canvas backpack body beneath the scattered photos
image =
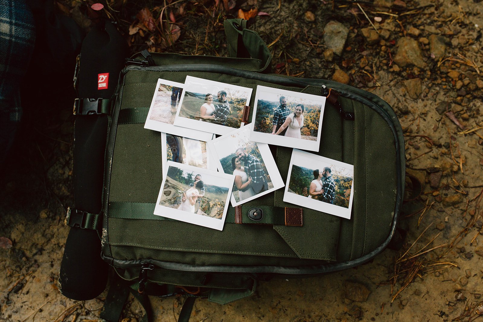
[[(270, 274), (326, 273), (382, 252), (396, 227), (405, 178), (401, 126), (383, 99), (329, 80), (263, 73), (270, 52), (256, 33), (239, 19), (225, 28), (230, 55), (241, 57), (148, 53), (149, 62), (145, 52), (121, 72), (106, 149), (101, 240), (103, 259), (123, 279), (204, 287), (218, 303), (252, 294), (256, 280)], [(284, 189), (229, 205), (222, 231), (153, 215), (161, 133), (145, 129), (144, 121), (158, 78), (184, 83), (188, 75), (252, 88), (252, 107), (257, 85), (326, 96), (320, 149), (311, 153), (354, 165), (351, 219), (284, 202)], [(271, 148), (285, 182), (293, 149)], [(263, 221), (249, 216), (254, 209), (263, 210)]]

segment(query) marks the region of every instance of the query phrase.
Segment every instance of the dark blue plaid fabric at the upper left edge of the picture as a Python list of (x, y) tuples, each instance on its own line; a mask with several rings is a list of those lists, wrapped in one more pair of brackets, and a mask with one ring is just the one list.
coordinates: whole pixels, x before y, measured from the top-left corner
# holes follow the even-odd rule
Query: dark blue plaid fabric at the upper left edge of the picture
[(32, 12), (24, 0), (0, 0), (0, 161), (20, 121), (20, 82), (35, 43)]

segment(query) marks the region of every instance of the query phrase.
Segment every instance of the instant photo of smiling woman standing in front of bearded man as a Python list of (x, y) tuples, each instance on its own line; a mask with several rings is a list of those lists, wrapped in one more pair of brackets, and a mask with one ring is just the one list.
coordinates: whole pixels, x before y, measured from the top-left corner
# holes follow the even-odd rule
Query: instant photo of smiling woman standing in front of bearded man
[(326, 98), (256, 86), (250, 140), (319, 151)]

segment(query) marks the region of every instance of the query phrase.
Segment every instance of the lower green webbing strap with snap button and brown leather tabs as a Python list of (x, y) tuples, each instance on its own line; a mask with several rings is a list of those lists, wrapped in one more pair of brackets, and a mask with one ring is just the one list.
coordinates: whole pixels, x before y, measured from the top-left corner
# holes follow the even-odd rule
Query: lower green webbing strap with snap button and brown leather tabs
[[(124, 219), (152, 219), (174, 220), (153, 214), (155, 203), (148, 202), (109, 202), (107, 214), (110, 218)], [(255, 221), (248, 216), (250, 210), (258, 209), (263, 212), (260, 220)], [(243, 224), (272, 224), (285, 225), (285, 208), (273, 206), (245, 206), (241, 205), (241, 223)], [(228, 207), (225, 223), (235, 224), (235, 208)]]

